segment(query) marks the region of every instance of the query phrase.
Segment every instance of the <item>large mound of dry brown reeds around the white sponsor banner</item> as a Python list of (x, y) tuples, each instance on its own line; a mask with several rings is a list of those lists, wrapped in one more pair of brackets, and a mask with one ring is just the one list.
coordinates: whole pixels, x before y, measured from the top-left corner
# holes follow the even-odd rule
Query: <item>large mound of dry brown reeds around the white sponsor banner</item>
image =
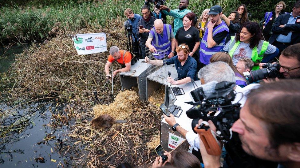
[[(11, 87), (1, 94), (17, 99), (26, 98), (61, 98), (69, 99), (75, 95), (86, 98), (98, 91), (105, 99), (109, 97), (111, 82), (106, 82), (104, 65), (109, 52), (78, 55), (73, 40), (69, 36), (84, 33), (107, 33), (107, 48), (116, 45), (125, 49), (123, 21), (117, 18), (110, 21), (107, 29), (87, 28), (76, 32), (58, 31), (57, 36), (45, 40), (44, 43), (33, 44), (28, 50), (16, 56), (11, 66), (9, 78), (3, 83)], [(113, 68), (119, 65), (113, 64)], [(117, 83), (118, 78), (114, 82)], [(116, 85), (115, 92), (120, 90)]]

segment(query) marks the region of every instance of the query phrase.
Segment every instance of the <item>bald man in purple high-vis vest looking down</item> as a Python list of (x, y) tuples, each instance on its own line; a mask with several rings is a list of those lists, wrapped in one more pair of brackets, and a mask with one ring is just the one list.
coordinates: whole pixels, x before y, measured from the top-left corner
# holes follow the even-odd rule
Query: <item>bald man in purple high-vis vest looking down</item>
[[(170, 24), (163, 24), (161, 19), (154, 21), (154, 27), (150, 30), (146, 47), (152, 53), (157, 53), (159, 50), (167, 50), (168, 58), (174, 56), (175, 53), (175, 38)], [(157, 59), (163, 59), (164, 55), (154, 55)]]

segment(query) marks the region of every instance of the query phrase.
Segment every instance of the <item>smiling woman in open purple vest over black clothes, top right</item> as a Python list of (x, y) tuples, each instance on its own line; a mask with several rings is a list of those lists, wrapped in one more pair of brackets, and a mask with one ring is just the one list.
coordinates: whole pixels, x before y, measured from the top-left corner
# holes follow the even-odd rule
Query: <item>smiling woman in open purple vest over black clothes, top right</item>
[(270, 36), (273, 34), (271, 28), (277, 17), (281, 14), (287, 13), (284, 12), (284, 9), (286, 9), (286, 3), (280, 1), (275, 5), (275, 10), (273, 12), (266, 12), (265, 17), (261, 21), (261, 23), (263, 22), (263, 38), (266, 41), (269, 41)]

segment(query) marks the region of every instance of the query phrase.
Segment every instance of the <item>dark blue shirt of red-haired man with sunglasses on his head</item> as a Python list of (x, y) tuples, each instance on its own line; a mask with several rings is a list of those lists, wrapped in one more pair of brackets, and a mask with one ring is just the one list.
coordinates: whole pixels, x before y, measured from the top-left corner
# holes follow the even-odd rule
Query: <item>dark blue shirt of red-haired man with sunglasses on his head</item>
[(164, 60), (164, 65), (170, 64), (175, 64), (178, 73), (178, 80), (184, 79), (186, 77), (198, 80), (196, 74), (197, 62), (191, 56), (188, 56), (188, 59), (185, 61), (183, 66), (181, 66), (181, 62), (179, 62), (177, 55), (170, 59)]

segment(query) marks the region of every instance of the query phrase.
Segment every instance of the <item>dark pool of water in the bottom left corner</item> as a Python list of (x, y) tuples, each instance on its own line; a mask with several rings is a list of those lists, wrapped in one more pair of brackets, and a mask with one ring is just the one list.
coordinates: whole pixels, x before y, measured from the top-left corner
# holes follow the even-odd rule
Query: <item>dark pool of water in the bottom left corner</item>
[[(39, 104), (34, 104), (25, 109), (18, 110), (19, 113), (6, 119), (6, 121), (8, 121), (20, 116), (28, 116), (31, 118), (30, 121), (27, 122), (29, 125), (22, 133), (14, 133), (4, 139), (0, 138), (0, 167), (57, 167), (59, 162), (66, 166), (64, 160), (66, 162), (70, 160), (69, 153), (63, 156), (68, 149), (66, 145), (66, 143), (68, 143), (66, 136), (68, 135), (66, 132), (68, 129), (64, 128), (64, 126), (57, 129), (57, 131), (53, 131), (51, 127), (47, 126), (51, 120), (52, 113), (57, 114), (61, 109), (57, 110), (55, 105), (52, 105), (54, 107), (46, 105), (40, 109), (36, 109), (38, 105)], [(7, 107), (3, 104), (0, 105), (0, 110), (4, 111), (6, 109)], [(35, 110), (32, 111), (33, 109)], [(52, 121), (54, 120), (50, 122)], [(52, 134), (51, 136), (56, 136), (56, 138), (47, 141), (49, 144), (41, 143), (38, 145), (37, 143), (43, 141), (48, 134)], [(61, 140), (67, 138), (67, 140), (64, 140), (63, 143), (60, 144), (59, 140), (57, 140), (59, 138)], [(3, 142), (6, 143), (3, 145)], [(61, 150), (61, 153), (58, 152), (59, 150)], [(39, 157), (43, 157), (45, 159), (44, 162), (35, 161), (34, 158)], [(51, 159), (56, 160), (56, 162), (51, 161)], [(59, 167), (62, 166), (59, 165)]]

